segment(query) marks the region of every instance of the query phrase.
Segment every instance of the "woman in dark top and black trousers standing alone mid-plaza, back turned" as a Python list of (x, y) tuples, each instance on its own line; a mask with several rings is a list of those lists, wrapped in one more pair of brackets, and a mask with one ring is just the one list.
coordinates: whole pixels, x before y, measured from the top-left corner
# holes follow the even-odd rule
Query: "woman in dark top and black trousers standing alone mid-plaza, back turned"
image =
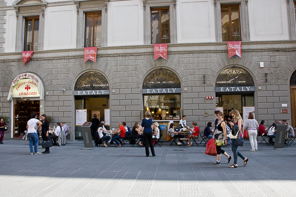
[(144, 127), (143, 135), (144, 135), (144, 145), (145, 145), (145, 151), (146, 151), (146, 157), (149, 157), (149, 145), (151, 149), (152, 157), (155, 157), (154, 147), (153, 147), (153, 140), (152, 140), (152, 119), (151, 119), (151, 113), (150, 111), (147, 111), (145, 113), (145, 118), (142, 120), (141, 126)]

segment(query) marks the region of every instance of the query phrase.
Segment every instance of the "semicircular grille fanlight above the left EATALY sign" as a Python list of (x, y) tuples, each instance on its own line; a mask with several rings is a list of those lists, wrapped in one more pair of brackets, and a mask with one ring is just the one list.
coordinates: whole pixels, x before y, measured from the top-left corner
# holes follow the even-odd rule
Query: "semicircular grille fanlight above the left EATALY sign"
[(103, 74), (89, 71), (77, 79), (74, 90), (109, 90), (109, 84)]

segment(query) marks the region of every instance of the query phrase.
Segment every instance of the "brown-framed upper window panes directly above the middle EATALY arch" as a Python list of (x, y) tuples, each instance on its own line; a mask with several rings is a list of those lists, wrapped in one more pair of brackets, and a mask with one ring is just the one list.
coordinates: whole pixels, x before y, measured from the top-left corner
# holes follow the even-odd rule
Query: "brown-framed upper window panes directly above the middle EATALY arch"
[(170, 43), (169, 8), (151, 8), (151, 43)]

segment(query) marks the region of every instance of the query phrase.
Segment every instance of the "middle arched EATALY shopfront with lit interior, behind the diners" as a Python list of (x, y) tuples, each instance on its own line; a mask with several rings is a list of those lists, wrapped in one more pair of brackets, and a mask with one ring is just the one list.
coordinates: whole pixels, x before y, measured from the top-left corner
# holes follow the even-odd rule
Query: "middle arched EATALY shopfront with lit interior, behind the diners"
[(163, 128), (162, 139), (166, 138), (170, 123), (179, 125), (182, 116), (179, 77), (169, 69), (155, 69), (145, 77), (142, 94), (144, 114), (151, 112), (152, 121)]

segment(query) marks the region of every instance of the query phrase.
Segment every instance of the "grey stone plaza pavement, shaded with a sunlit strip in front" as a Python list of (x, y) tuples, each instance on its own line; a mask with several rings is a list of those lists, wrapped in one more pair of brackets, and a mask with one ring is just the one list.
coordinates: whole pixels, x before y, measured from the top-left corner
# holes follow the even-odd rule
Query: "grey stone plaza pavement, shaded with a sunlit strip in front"
[[(29, 142), (0, 144), (0, 197), (296, 197), (296, 145), (284, 150), (259, 145), (241, 153), (250, 159), (230, 169), (226, 157), (205, 147), (83, 148), (82, 141), (54, 146), (50, 154), (30, 155)], [(232, 156), (231, 148), (224, 150)], [(39, 152), (43, 149), (39, 149)]]

